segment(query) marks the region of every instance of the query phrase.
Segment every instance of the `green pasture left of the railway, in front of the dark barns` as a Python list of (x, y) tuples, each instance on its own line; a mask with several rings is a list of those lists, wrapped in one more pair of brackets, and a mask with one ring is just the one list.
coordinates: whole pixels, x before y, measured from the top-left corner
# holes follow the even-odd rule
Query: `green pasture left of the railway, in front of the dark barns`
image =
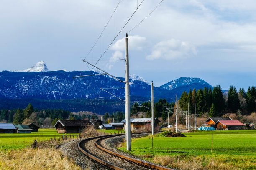
[[(31, 145), (34, 140), (50, 140), (50, 138), (58, 138), (62, 135), (76, 135), (75, 134), (59, 134), (56, 129), (38, 129), (38, 132), (32, 133), (13, 133), (13, 134), (0, 134), (0, 149), (22, 149)], [(76, 137), (75, 137), (76, 138)]]

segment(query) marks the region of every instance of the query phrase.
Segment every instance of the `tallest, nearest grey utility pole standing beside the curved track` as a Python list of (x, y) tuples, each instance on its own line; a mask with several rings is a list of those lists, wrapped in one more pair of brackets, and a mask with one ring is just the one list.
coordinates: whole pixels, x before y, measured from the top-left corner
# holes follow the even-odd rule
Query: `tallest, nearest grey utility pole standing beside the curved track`
[(126, 120), (126, 150), (131, 151), (131, 114), (130, 114), (130, 82), (129, 82), (129, 53), (128, 53), (128, 34), (125, 38), (125, 120)]

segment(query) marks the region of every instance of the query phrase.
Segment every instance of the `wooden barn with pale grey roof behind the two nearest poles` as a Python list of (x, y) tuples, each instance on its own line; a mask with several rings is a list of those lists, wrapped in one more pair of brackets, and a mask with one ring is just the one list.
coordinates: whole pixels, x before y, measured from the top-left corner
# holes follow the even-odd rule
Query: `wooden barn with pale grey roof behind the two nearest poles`
[[(120, 123), (125, 124), (126, 120), (122, 120)], [(159, 122), (157, 118), (155, 118), (155, 132), (160, 131)], [(131, 119), (131, 131), (151, 131), (151, 118), (136, 118)]]

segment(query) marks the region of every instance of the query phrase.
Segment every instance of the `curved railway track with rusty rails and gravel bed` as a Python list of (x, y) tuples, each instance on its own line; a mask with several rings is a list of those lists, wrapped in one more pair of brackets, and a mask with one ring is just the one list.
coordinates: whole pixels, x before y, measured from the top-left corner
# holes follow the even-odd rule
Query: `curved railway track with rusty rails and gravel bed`
[[(78, 143), (79, 150), (95, 162), (104, 165), (105, 168), (114, 170), (173, 170), (146, 161), (137, 160), (125, 155), (120, 155), (104, 148), (101, 142), (107, 138), (120, 136), (108, 135), (87, 138)], [(102, 167), (101, 167), (102, 168)]]

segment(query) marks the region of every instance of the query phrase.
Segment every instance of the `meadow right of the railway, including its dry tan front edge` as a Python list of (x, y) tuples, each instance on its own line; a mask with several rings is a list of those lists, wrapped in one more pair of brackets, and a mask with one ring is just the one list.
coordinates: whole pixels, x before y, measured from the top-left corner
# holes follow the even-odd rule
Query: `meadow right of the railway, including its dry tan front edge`
[[(132, 139), (131, 154), (177, 169), (256, 169), (256, 130), (200, 131)], [(213, 149), (211, 141), (213, 134)], [(125, 143), (119, 148), (125, 151)]]

